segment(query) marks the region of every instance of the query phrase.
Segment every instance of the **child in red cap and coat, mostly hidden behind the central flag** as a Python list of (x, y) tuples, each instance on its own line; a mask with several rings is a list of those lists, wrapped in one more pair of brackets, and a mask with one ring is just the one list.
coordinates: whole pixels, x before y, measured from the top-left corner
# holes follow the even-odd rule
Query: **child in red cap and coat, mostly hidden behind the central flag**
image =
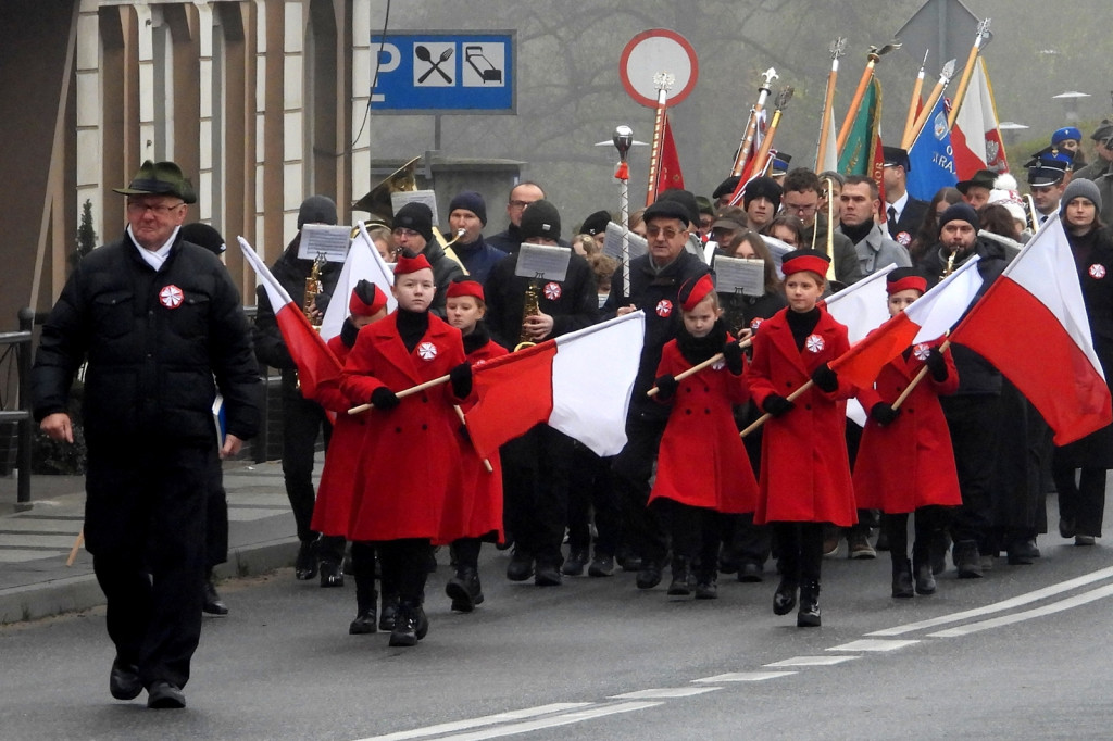
[[(506, 348), (491, 339), (483, 323), (486, 302), (483, 286), (466, 278), (456, 278), (445, 292), (445, 314), (449, 324), (464, 337), (464, 352), (472, 366), (506, 354)], [(466, 412), (474, 402), (462, 405)], [(486, 465), (491, 470), (487, 471)], [(452, 540), (456, 573), (444, 586), (452, 597), (452, 609), (471, 612), (483, 602), (479, 559), (483, 540), (502, 541), (502, 464), (495, 453), (482, 461), (470, 445), (463, 446), (463, 487), (445, 507), (443, 525)], [(459, 536), (460, 534), (462, 536)], [(451, 536), (450, 536), (451, 540)]]

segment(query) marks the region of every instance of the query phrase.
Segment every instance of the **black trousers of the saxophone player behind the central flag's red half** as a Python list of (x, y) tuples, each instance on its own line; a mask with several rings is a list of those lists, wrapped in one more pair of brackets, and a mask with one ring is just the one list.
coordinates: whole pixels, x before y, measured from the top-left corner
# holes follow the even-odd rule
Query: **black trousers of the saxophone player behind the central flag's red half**
[(503, 520), (514, 546), (541, 563), (564, 563), (572, 438), (535, 425), (501, 448)]

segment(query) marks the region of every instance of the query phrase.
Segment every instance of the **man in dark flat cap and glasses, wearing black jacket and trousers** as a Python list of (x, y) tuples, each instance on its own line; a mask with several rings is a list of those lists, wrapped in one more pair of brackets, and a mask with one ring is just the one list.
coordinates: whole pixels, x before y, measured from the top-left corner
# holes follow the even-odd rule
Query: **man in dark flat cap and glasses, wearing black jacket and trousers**
[(611, 294), (603, 305), (603, 318), (643, 309), (646, 340), (638, 363), (627, 414), (627, 445), (614, 458), (614, 487), (623, 507), (623, 533), (627, 544), (641, 557), (638, 587), (652, 589), (661, 581), (661, 567), (668, 540), (649, 501), (649, 478), (657, 448), (669, 421), (669, 407), (646, 396), (653, 387), (661, 348), (677, 336), (680, 318), (680, 287), (708, 273), (699, 257), (684, 250), (690, 214), (680, 202), (659, 200), (646, 209), (649, 253), (630, 260), (630, 287), (621, 279), (621, 268), (611, 283)]

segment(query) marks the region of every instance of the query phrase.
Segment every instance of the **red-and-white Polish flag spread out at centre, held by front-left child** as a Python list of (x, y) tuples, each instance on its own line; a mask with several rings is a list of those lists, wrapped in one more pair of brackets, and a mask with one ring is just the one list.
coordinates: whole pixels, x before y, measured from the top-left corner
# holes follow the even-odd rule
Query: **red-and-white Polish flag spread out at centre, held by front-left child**
[(473, 367), (479, 402), (466, 415), (481, 456), (546, 423), (600, 456), (627, 443), (646, 315), (633, 312)]

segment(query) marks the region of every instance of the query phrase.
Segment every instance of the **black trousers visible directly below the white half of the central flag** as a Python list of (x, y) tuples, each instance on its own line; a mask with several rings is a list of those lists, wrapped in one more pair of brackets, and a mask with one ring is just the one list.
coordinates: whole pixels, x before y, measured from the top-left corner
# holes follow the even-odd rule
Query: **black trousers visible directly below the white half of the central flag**
[(622, 533), (622, 515), (611, 483), (611, 458), (601, 458), (574, 443), (568, 485), (568, 542), (573, 551), (591, 547), (594, 512), (595, 552), (614, 555)]

